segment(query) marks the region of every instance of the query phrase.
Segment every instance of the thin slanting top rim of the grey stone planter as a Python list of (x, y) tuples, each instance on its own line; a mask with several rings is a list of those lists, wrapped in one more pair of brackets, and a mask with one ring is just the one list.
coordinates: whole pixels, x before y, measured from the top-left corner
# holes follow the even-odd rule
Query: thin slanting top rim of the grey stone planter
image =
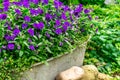
[[(90, 36), (88, 37), (88, 39), (84, 41), (83, 44), (80, 44), (80, 45), (78, 45), (77, 47), (71, 49), (71, 50), (70, 50), (70, 53), (72, 53), (76, 48), (79, 48), (79, 47), (81, 47), (81, 46), (85, 46), (85, 45), (87, 44), (87, 42), (90, 41), (91, 37), (92, 37), (92, 36), (90, 35)], [(67, 54), (70, 54), (70, 53), (69, 53), (69, 52), (65, 52), (64, 54), (60, 54), (60, 55), (58, 55), (58, 56), (56, 56), (56, 57), (52, 57), (52, 58), (47, 59), (46, 62), (50, 62), (50, 61), (52, 61), (52, 60), (54, 60), (54, 59), (56, 59), (56, 58), (62, 57), (62, 56), (64, 56), (64, 55), (67, 55)], [(35, 63), (35, 64), (33, 64), (33, 65), (31, 66), (31, 68), (32, 68), (32, 67), (35, 67), (35, 66), (42, 65), (42, 64), (44, 64), (44, 63), (42, 63), (42, 62)]]

